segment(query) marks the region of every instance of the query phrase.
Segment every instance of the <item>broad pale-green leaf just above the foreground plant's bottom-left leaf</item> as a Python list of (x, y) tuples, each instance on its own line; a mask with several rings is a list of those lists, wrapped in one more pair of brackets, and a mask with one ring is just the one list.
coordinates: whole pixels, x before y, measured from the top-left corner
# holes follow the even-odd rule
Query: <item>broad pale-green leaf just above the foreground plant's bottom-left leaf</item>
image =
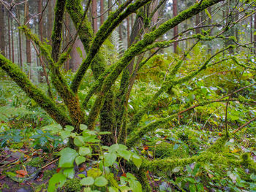
[(69, 147), (64, 148), (60, 152), (61, 157), (59, 158), (59, 167), (69, 168), (74, 166), (75, 158), (78, 153)]

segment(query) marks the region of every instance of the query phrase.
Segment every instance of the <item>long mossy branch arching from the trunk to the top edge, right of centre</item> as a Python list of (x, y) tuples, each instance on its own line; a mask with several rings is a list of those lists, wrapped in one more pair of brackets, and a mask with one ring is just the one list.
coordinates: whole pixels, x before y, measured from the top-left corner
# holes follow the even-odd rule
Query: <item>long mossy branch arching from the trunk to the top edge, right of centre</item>
[[(131, 61), (132, 58), (135, 57), (135, 55), (138, 55), (138, 53), (140, 53), (140, 50), (143, 50), (143, 48), (145, 48), (146, 46), (151, 45), (158, 37), (160, 37), (162, 34), (165, 34), (167, 31), (170, 30), (170, 28), (177, 26), (178, 23), (181, 23), (182, 21), (187, 20), (188, 18), (191, 18), (193, 15), (196, 15), (198, 12), (202, 11), (203, 9), (206, 9), (207, 7), (210, 7), (213, 4), (217, 4), (220, 1), (222, 0), (204, 0), (202, 1), (201, 4), (195, 4), (189, 9), (186, 9), (183, 12), (181, 12), (175, 18), (167, 20), (165, 23), (160, 25), (159, 28), (155, 29), (149, 34), (146, 34), (144, 38), (140, 40), (138, 43), (136, 43), (135, 45), (132, 45), (124, 53), (124, 56), (120, 59), (120, 61), (117, 62), (113, 72), (111, 72), (108, 75), (108, 77), (106, 77), (102, 85), (102, 89), (98, 94), (97, 99), (94, 103), (94, 107), (90, 112), (89, 122), (91, 123), (95, 122), (95, 120), (98, 117), (100, 107), (102, 106), (102, 102), (105, 99), (104, 94), (108, 93), (108, 91), (110, 90), (110, 87), (113, 85), (113, 82), (116, 81), (118, 75), (129, 64), (129, 61)], [(81, 74), (83, 75), (83, 72)], [(74, 82), (77, 85), (73, 85), (73, 88), (79, 85), (80, 80), (76, 79), (74, 80)]]

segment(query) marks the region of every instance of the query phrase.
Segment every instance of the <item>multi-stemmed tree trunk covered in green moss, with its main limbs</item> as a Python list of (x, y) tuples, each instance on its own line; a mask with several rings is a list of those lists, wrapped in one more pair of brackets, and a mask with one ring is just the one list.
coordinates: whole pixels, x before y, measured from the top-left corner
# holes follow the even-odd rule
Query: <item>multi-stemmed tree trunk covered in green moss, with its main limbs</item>
[[(48, 69), (50, 70), (51, 82), (56, 88), (56, 91), (63, 99), (64, 104), (67, 107), (68, 113), (64, 110), (61, 110), (58, 107), (58, 104), (56, 104), (55, 101), (46, 96), (43, 91), (40, 91), (39, 88), (32, 85), (30, 80), (26, 78), (26, 75), (23, 74), (23, 72), (21, 72), (20, 69), (15, 66), (15, 64), (12, 64), (12, 62), (7, 60), (7, 58), (4, 58), (4, 55), (0, 56), (0, 66), (1, 69), (4, 69), (4, 71), (6, 71), (7, 74), (9, 74), (10, 77), (12, 77), (12, 79), (18, 83), (18, 85), (20, 85), (20, 88), (23, 88), (23, 91), (25, 91), (31, 97), (31, 99), (34, 99), (34, 101), (36, 101), (40, 107), (48, 112), (48, 114), (54, 120), (56, 120), (56, 122), (60, 123), (61, 126), (72, 125), (75, 126), (75, 131), (79, 132), (80, 123), (85, 123), (89, 126), (89, 128), (94, 129), (95, 123), (100, 117), (99, 120), (101, 123), (101, 130), (111, 131), (113, 133), (112, 136), (103, 138), (103, 143), (111, 145), (114, 142), (117, 142), (116, 139), (118, 135), (115, 134), (116, 132), (118, 132), (116, 131), (116, 128), (119, 127), (117, 126), (116, 122), (118, 120), (118, 117), (120, 117), (120, 114), (118, 116), (114, 111), (114, 102), (116, 96), (112, 91), (112, 85), (116, 82), (116, 79), (121, 74), (121, 72), (124, 72), (123, 77), (125, 77), (125, 69), (129, 69), (127, 68), (127, 66), (131, 64), (131, 61), (137, 55), (145, 53), (147, 49), (150, 50), (152, 49), (152, 47), (154, 48), (154, 46), (161, 47), (163, 45), (167, 45), (168, 42), (162, 42), (162, 44), (154, 44), (154, 42), (167, 31), (176, 27), (184, 20), (191, 18), (192, 16), (198, 14), (199, 12), (210, 7), (211, 5), (217, 4), (220, 1), (223, 0), (203, 0), (200, 1), (200, 4), (195, 3), (194, 5), (192, 5), (192, 7), (189, 7), (183, 12), (180, 12), (176, 17), (167, 20), (165, 23), (162, 23), (158, 28), (152, 28), (151, 32), (146, 31), (146, 34), (143, 35), (143, 38), (134, 40), (133, 44), (124, 52), (123, 56), (119, 59), (119, 61), (111, 67), (105, 66), (105, 58), (100, 52), (99, 48), (102, 46), (103, 42), (105, 42), (105, 39), (108, 38), (112, 31), (116, 27), (118, 27), (118, 25), (123, 20), (128, 18), (129, 15), (131, 15), (132, 13), (137, 12), (141, 7), (149, 7), (148, 3), (150, 3), (151, 0), (138, 0), (134, 1), (133, 3), (132, 0), (125, 1), (124, 4), (121, 4), (118, 9), (116, 9), (116, 11), (112, 12), (109, 15), (108, 19), (105, 21), (105, 23), (102, 24), (101, 28), (99, 28), (99, 31), (95, 35), (93, 34), (91, 23), (89, 23), (89, 20), (87, 18), (85, 18), (84, 20), (82, 19), (83, 7), (80, 4), (80, 0), (56, 1), (52, 34), (53, 45), (51, 53), (49, 53), (48, 47), (46, 47), (45, 44), (42, 43), (37, 36), (31, 33), (29, 28), (23, 26), (20, 29), (26, 34), (27, 38), (31, 39), (37, 44), (37, 46), (39, 46), (42, 55), (44, 55), (45, 59), (48, 61)], [(163, 1), (161, 1), (161, 3), (162, 2)], [(159, 6), (157, 6), (156, 8), (159, 9)], [(80, 68), (78, 69), (78, 72), (75, 73), (75, 77), (72, 80), (71, 85), (67, 83), (67, 80), (65, 80), (64, 75), (61, 72), (61, 66), (68, 58), (68, 53), (60, 53), (62, 42), (62, 26), (64, 21), (64, 12), (66, 9), (70, 17), (72, 18), (76, 29), (78, 30), (78, 36), (81, 42), (83, 42), (83, 47), (86, 50), (86, 59), (83, 61), (82, 64), (80, 64)], [(156, 10), (153, 9), (152, 12), (155, 11)], [(153, 15), (149, 14), (143, 16), (142, 21), (144, 26), (147, 27), (150, 25)], [(140, 31), (141, 28), (138, 28), (137, 32), (132, 35), (131, 39), (135, 39), (135, 37), (138, 36), (136, 34), (140, 34)], [(143, 64), (142, 58), (143, 57), (140, 58), (139, 61), (141, 62), (138, 63), (138, 66), (140, 66), (140, 64)], [(78, 90), (80, 87), (80, 82), (83, 80), (83, 76), (89, 66), (91, 66), (91, 69), (93, 71), (95, 82), (94, 85), (91, 86), (91, 90), (89, 91), (86, 98), (90, 99), (91, 96), (96, 94), (96, 100), (91, 107), (89, 115), (86, 116), (84, 112), (84, 107), (86, 105), (82, 106), (82, 104), (80, 104), (80, 99), (78, 98)], [(124, 86), (126, 88), (127, 85), (129, 85), (129, 80), (133, 69), (134, 66), (132, 64), (131, 70), (127, 70), (128, 78), (126, 80), (123, 80), (122, 82), (126, 84)], [(138, 67), (138, 69), (140, 69), (140, 67)], [(166, 91), (168, 88), (170, 88), (171, 85), (174, 85), (175, 83), (181, 83), (191, 79), (191, 77), (195, 77), (195, 75), (203, 69), (206, 69), (206, 64), (201, 66), (197, 72), (189, 74), (188, 77), (184, 77), (184, 79), (182, 80), (168, 81), (170, 82), (170, 85), (163, 86), (153, 99), (157, 100), (159, 93)], [(121, 94), (118, 96), (118, 98), (127, 101), (127, 91), (121, 91)], [(146, 105), (145, 107), (150, 107), (152, 105), (154, 105), (154, 102)], [(125, 102), (121, 104), (121, 106), (119, 106), (118, 110), (124, 113), (123, 116), (125, 118), (125, 111), (127, 110), (127, 105), (125, 105)], [(134, 128), (131, 128), (130, 130), (137, 129), (137, 124), (144, 114), (145, 111), (141, 110), (140, 112), (138, 112), (138, 115), (135, 115), (135, 119), (132, 120), (132, 123), (129, 125), (129, 127), (134, 126)], [(126, 126), (126, 123), (124, 124)], [(149, 131), (147, 128), (145, 130)], [(141, 133), (145, 134), (145, 130)], [(132, 133), (132, 137), (134, 136), (133, 134), (135, 134), (135, 132)]]

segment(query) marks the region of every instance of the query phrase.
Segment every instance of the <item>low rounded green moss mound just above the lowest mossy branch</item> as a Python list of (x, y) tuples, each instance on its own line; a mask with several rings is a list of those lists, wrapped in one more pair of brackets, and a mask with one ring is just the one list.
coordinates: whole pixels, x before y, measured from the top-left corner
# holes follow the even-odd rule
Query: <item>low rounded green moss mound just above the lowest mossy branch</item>
[(157, 158), (187, 158), (189, 155), (184, 147), (178, 147), (176, 150), (174, 145), (168, 142), (161, 142), (158, 145), (149, 147), (149, 150), (154, 151), (154, 155)]

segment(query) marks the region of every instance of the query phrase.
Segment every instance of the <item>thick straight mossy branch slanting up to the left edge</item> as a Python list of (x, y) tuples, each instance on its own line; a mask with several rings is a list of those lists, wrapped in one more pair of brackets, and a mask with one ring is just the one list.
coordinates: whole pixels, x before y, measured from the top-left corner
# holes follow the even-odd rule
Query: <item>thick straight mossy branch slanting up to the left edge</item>
[(39, 104), (42, 109), (44, 109), (50, 115), (53, 120), (56, 120), (57, 123), (61, 126), (72, 125), (71, 120), (67, 118), (67, 115), (56, 106), (56, 104), (48, 97), (45, 96), (39, 88), (34, 86), (26, 74), (24, 74), (18, 66), (12, 64), (7, 58), (4, 58), (0, 54), (0, 66), (1, 69), (4, 69), (5, 72), (14, 80), (20, 88), (34, 101)]

